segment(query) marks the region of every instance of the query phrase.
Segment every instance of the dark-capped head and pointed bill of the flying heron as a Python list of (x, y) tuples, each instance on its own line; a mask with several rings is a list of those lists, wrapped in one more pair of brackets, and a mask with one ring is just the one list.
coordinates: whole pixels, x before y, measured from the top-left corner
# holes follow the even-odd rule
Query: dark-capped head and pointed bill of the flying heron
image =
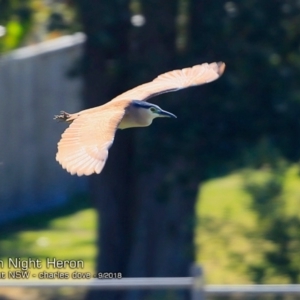
[(135, 100), (132, 102), (132, 105), (135, 110), (139, 111), (141, 118), (151, 120), (151, 122), (155, 118), (177, 118), (174, 114), (152, 103)]

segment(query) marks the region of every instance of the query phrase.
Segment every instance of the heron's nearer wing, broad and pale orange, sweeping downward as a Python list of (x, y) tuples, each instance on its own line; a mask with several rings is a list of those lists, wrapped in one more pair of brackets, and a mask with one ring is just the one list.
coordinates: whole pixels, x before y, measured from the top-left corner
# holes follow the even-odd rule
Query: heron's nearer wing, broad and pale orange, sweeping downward
[(56, 160), (72, 175), (99, 174), (124, 113), (120, 106), (78, 116), (62, 134)]

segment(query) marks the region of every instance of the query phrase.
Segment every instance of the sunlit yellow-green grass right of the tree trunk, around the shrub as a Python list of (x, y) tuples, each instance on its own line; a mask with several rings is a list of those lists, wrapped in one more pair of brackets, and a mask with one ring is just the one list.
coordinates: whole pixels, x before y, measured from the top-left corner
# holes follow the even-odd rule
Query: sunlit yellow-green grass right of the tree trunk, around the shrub
[[(244, 191), (245, 170), (202, 184), (196, 205), (199, 219), (195, 234), (196, 258), (204, 266), (208, 283), (251, 283), (247, 265), (261, 262), (262, 250), (272, 243), (258, 239), (256, 214), (251, 197)], [(252, 171), (256, 182), (264, 182), (268, 171)], [(292, 166), (284, 178), (285, 210), (300, 217), (299, 167)], [(272, 277), (269, 283), (284, 283)]]

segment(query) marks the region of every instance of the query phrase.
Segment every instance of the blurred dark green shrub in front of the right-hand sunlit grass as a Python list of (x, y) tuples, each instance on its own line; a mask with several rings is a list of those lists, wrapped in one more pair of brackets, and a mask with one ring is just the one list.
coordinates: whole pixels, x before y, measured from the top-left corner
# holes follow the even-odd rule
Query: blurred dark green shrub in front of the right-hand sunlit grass
[[(265, 145), (262, 148), (264, 153)], [(249, 274), (257, 283), (264, 283), (272, 276), (287, 278), (289, 283), (300, 280), (300, 217), (290, 215), (286, 210), (286, 172), (286, 163), (280, 157), (274, 160), (270, 156), (265, 160), (263, 177), (258, 178), (253, 172), (245, 173), (244, 187), (251, 196), (250, 209), (256, 213), (260, 228), (257, 238), (266, 239), (272, 245), (262, 250), (261, 262), (248, 266)]]

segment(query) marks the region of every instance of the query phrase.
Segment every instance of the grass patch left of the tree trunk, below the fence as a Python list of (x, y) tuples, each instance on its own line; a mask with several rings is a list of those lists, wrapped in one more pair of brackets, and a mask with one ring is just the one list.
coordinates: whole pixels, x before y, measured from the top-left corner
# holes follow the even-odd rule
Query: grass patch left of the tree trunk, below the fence
[[(82, 201), (82, 202), (81, 202)], [(0, 260), (8, 271), (8, 258), (40, 259), (41, 272), (70, 272), (69, 268), (46, 269), (46, 258), (83, 260), (80, 272), (94, 272), (96, 256), (96, 212), (86, 199), (76, 199), (63, 208), (33, 215), (10, 224), (0, 231)], [(10, 269), (10, 271), (14, 271)], [(34, 279), (34, 278), (31, 278)]]

